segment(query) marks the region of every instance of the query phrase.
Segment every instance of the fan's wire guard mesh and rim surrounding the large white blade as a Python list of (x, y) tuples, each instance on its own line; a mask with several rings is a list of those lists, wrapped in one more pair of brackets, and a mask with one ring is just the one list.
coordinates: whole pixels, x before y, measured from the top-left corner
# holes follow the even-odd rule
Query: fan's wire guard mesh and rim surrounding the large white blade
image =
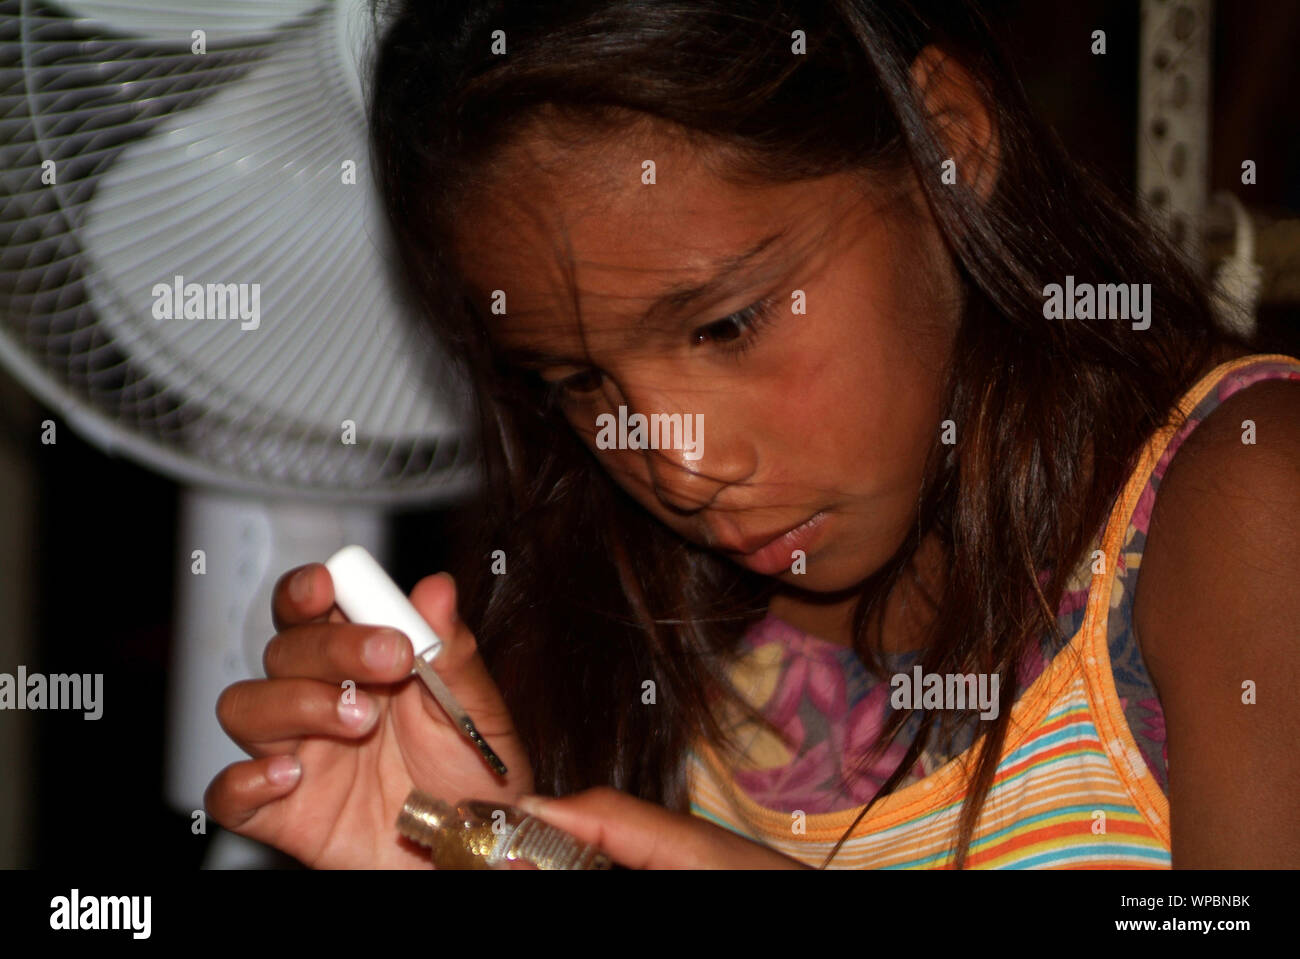
[[(104, 311), (127, 307), (96, 277), (83, 230), (124, 151), (332, 18), (316, 8), (194, 56), (187, 43), (124, 38), (48, 5), (0, 0), (0, 359), (101, 448), (185, 482), (352, 502), (459, 498), (477, 482), (473, 437), (458, 426), (465, 391), (426, 340), (415, 340), (424, 342), (416, 361), (447, 425), (394, 416), (344, 444), (335, 424), (247, 395), (207, 402), (165, 382), (103, 322)], [(42, 182), (46, 160), (57, 183)]]

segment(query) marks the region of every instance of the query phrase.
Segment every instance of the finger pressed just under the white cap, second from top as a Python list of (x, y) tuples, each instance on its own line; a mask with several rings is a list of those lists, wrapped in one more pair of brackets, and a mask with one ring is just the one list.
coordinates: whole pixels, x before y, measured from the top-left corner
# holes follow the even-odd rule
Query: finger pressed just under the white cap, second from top
[(411, 674), (412, 658), (411, 641), (395, 629), (307, 622), (273, 635), (261, 664), (272, 680), (299, 676), (326, 682), (398, 682)]

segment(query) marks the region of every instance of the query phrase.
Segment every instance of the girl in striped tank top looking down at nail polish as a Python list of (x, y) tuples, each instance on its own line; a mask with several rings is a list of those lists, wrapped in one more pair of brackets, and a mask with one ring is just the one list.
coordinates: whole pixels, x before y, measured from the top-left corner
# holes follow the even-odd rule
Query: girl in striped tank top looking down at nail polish
[(1300, 360), (974, 6), (396, 8), (377, 175), (488, 478), (412, 599), (511, 772), (313, 564), (218, 704), (220, 823), (419, 867), (415, 785), (637, 867), (1300, 864)]

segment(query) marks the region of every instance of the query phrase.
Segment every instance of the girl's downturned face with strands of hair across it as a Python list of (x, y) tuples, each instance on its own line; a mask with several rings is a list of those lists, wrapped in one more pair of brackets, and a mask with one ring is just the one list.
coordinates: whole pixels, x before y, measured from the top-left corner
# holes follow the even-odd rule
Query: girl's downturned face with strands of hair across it
[[(850, 589), (915, 521), (961, 308), (952, 260), (910, 173), (738, 186), (705, 160), (649, 122), (520, 138), (458, 221), (462, 269), (484, 313), (504, 292), (494, 340), (654, 516), (788, 586)], [(603, 448), (620, 405), (689, 416), (697, 448), (680, 433)]]

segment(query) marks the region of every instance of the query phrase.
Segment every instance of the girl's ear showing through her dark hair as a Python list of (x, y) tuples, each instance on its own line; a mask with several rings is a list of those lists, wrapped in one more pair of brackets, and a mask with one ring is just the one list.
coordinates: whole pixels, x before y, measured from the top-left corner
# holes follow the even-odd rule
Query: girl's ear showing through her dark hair
[(911, 65), (911, 78), (957, 175), (980, 199), (993, 194), (1001, 151), (992, 112), (970, 73), (939, 47), (926, 47)]

